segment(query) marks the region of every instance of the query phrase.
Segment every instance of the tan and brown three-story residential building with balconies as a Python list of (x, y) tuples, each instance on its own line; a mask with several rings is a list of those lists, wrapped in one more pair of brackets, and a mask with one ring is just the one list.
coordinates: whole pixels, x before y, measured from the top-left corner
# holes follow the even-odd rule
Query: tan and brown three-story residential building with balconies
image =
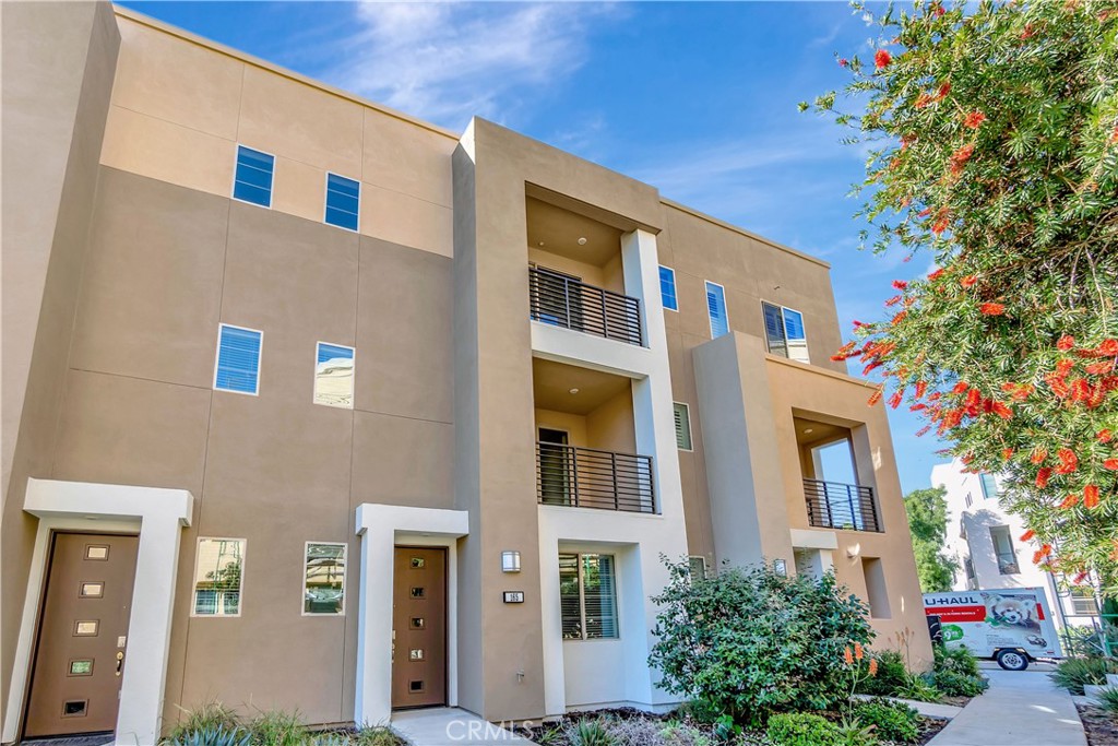
[(4, 743), (671, 707), (661, 555), (833, 569), (930, 657), (826, 264), (125, 9), (3, 21)]

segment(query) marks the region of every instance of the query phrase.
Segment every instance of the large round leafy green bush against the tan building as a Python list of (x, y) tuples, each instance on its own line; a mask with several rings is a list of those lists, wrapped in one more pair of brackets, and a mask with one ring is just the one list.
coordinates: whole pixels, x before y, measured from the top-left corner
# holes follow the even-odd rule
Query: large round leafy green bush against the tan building
[(843, 650), (873, 632), (866, 606), (834, 575), (786, 577), (755, 566), (692, 583), (686, 563), (667, 567), (671, 582), (653, 598), (661, 611), (648, 657), (664, 689), (699, 699), (697, 711), (750, 725), (849, 696)]

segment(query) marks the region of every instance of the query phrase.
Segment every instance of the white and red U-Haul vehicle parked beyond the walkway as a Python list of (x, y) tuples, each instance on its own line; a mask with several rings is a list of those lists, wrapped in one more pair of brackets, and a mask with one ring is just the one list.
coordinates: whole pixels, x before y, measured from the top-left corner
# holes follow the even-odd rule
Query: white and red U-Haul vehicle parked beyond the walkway
[(923, 594), (934, 640), (965, 646), (1008, 671), (1038, 658), (1060, 658), (1060, 638), (1043, 588), (953, 591)]

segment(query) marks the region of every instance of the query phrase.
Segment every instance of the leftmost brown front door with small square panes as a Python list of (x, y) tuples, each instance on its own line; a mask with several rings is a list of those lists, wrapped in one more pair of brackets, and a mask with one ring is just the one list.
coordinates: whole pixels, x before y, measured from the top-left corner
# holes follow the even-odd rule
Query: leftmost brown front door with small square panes
[(55, 533), (23, 735), (116, 728), (135, 536)]

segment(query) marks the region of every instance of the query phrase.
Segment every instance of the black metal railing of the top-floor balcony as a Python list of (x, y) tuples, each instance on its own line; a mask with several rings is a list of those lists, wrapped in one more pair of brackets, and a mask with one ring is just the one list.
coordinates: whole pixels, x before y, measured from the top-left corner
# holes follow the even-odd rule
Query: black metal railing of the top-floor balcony
[(641, 302), (542, 267), (529, 268), (531, 318), (638, 347)]

